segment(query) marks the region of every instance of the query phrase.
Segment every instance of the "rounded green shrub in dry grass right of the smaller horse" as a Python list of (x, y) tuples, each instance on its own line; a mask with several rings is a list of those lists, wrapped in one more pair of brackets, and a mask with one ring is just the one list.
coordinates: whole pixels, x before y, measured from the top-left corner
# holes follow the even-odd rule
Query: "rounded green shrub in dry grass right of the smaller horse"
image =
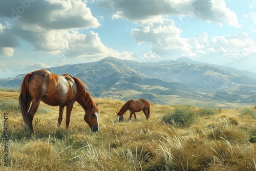
[(172, 112), (165, 114), (162, 121), (172, 125), (190, 125), (195, 120), (197, 112), (189, 106), (177, 106)]

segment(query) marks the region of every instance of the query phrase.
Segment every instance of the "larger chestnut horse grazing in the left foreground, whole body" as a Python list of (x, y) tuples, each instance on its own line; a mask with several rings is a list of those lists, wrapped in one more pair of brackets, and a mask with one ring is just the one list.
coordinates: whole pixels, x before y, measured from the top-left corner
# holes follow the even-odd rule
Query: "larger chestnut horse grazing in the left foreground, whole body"
[(27, 74), (20, 87), (19, 105), (30, 133), (34, 133), (32, 121), (40, 101), (52, 106), (59, 105), (58, 126), (62, 121), (63, 110), (67, 106), (67, 128), (73, 104), (77, 101), (86, 113), (84, 121), (89, 124), (93, 132), (98, 131), (99, 108), (83, 86), (86, 84), (69, 74), (56, 75), (47, 70), (37, 70)]

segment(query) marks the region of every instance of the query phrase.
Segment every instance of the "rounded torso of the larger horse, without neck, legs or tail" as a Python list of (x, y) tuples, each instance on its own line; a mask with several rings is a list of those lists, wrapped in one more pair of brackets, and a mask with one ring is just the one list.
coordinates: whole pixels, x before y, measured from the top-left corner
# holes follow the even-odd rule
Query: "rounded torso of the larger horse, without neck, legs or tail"
[(29, 93), (32, 99), (41, 99), (48, 105), (65, 105), (66, 101), (74, 101), (77, 92), (75, 81), (70, 75), (37, 70), (30, 76)]

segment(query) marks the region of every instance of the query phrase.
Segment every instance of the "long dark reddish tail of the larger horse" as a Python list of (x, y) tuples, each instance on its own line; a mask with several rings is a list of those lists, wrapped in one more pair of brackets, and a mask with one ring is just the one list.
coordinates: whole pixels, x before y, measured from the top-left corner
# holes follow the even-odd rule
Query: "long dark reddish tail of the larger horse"
[(28, 101), (31, 98), (29, 95), (29, 78), (32, 73), (27, 74), (24, 77), (24, 80), (22, 82), (22, 86), (20, 86), (20, 95), (19, 95), (19, 106), (20, 110), (22, 112), (23, 120), (24, 122), (28, 125), (29, 120), (28, 120)]

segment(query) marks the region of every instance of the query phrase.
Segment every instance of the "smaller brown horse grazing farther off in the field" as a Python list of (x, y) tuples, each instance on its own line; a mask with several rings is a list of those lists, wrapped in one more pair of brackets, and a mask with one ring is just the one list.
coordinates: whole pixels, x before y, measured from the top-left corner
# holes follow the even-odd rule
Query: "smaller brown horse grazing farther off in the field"
[(129, 100), (127, 101), (120, 111), (117, 113), (117, 121), (122, 121), (123, 120), (123, 114), (127, 111), (131, 111), (130, 114), (130, 120), (132, 116), (134, 115), (136, 119), (136, 114), (135, 112), (140, 112), (143, 111), (143, 113), (146, 116), (146, 119), (150, 117), (150, 102), (148, 102), (145, 99), (138, 99), (138, 100)]

